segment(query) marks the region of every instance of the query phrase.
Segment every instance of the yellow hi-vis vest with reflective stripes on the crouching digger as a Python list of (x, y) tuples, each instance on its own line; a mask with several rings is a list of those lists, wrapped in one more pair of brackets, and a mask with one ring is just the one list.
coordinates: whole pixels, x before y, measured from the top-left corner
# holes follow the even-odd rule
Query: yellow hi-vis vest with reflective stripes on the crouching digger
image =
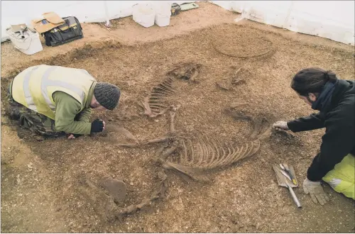
[(94, 77), (84, 69), (38, 65), (28, 67), (13, 79), (12, 97), (19, 104), (55, 120), (55, 91), (75, 98), (82, 111), (94, 82)]

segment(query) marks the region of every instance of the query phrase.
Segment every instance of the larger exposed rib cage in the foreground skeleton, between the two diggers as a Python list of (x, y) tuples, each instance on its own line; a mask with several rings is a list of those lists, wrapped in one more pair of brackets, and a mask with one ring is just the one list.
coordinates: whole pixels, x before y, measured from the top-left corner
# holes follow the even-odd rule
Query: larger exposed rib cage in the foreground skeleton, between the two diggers
[(208, 180), (204, 177), (207, 171), (233, 165), (254, 155), (259, 147), (259, 140), (253, 140), (241, 147), (232, 147), (223, 145), (219, 140), (202, 136), (193, 142), (192, 140), (180, 140), (178, 154), (168, 157), (165, 153), (161, 160), (165, 169), (173, 169), (192, 179)]

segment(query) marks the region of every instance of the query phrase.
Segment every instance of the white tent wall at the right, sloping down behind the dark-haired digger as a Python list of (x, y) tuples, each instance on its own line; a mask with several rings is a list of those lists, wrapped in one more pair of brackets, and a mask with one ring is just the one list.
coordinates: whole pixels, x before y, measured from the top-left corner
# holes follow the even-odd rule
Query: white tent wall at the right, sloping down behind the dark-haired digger
[(341, 43), (355, 42), (355, 1), (212, 1), (251, 21), (317, 35)]

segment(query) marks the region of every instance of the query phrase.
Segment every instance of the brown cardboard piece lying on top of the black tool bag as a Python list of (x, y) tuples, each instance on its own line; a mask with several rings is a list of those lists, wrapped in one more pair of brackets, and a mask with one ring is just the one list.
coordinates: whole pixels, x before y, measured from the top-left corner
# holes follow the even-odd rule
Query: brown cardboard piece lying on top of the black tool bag
[(45, 33), (52, 28), (61, 26), (65, 21), (54, 12), (47, 12), (42, 14), (42, 18), (35, 18), (31, 21), (33, 28), (38, 33)]

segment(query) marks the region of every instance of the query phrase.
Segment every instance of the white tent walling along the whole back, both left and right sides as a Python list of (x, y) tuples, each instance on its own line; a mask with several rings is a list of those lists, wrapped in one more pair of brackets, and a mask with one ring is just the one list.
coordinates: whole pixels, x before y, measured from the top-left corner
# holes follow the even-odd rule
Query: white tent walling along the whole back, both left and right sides
[[(1, 41), (11, 24), (27, 23), (44, 12), (60, 16), (76, 16), (80, 22), (104, 22), (107, 18), (132, 15), (138, 3), (159, 4), (161, 1), (1, 1)], [(192, 1), (170, 1), (182, 4)], [(354, 1), (211, 1), (244, 18), (287, 28), (299, 33), (318, 35), (354, 45)], [(105, 11), (107, 4), (108, 16)]]

